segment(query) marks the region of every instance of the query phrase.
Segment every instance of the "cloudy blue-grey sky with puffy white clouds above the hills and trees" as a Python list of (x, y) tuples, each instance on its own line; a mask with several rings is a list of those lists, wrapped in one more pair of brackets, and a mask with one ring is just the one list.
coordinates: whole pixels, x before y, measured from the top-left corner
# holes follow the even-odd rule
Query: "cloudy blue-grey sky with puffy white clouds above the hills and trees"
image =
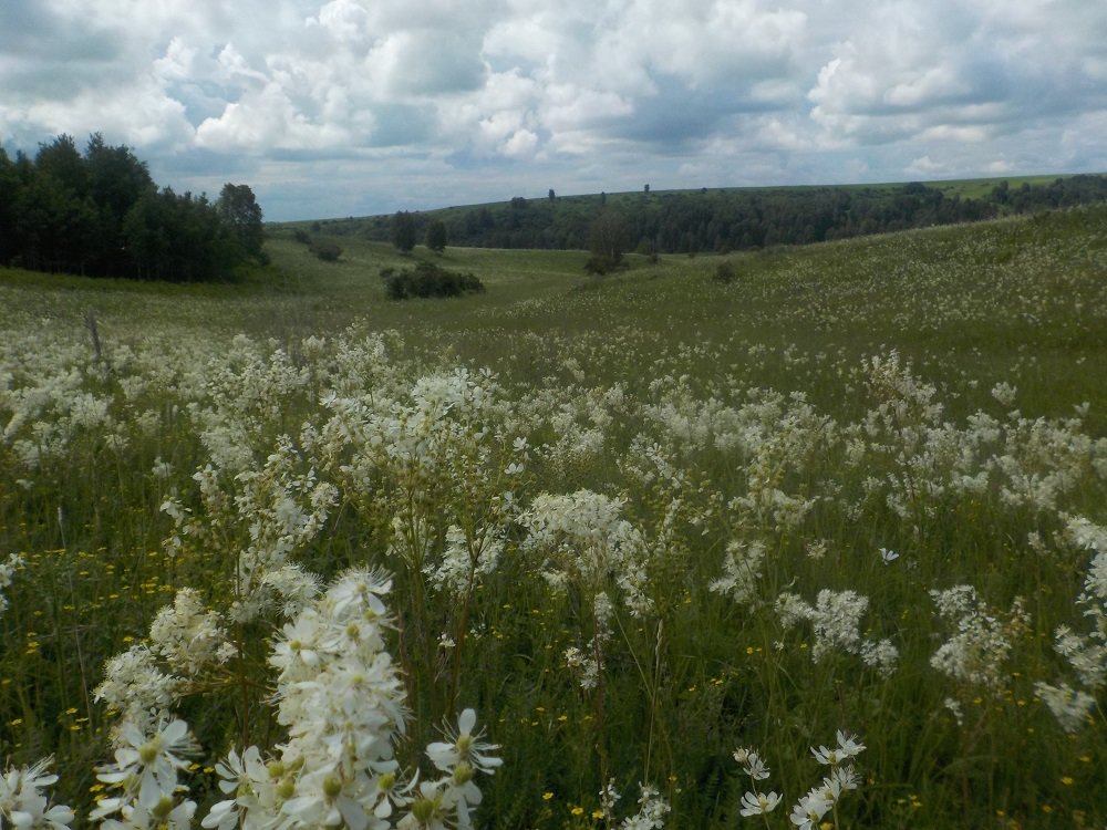
[(1107, 172), (1104, 0), (0, 0), (0, 145), (272, 220)]

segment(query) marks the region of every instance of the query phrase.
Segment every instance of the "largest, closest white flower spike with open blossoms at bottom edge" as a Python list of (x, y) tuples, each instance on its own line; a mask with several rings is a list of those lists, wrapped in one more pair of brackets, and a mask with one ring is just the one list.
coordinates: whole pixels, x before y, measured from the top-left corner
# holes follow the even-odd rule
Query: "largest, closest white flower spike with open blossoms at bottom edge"
[(231, 751), (217, 771), (228, 796), (201, 822), (205, 828), (392, 827), (396, 808), (410, 808), (400, 828), (470, 826), (480, 802), (473, 779), (490, 774), (497, 747), (478, 740), (476, 716), (462, 713), (448, 741), (427, 756), (442, 775), (402, 780), (394, 745), (405, 732), (404, 689), (385, 649), (390, 619), (383, 601), (391, 580), (352, 570), (318, 602), (284, 625), (270, 663), (279, 672), (278, 720), (289, 739), (262, 760), (256, 746)]

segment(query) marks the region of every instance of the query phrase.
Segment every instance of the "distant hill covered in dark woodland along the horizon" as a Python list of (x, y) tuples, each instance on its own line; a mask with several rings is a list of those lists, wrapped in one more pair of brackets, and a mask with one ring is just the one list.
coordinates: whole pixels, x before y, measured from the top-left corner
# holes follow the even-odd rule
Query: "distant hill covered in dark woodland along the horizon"
[[(413, 214), (418, 239), (435, 219), (448, 245), (587, 249), (592, 222), (618, 215), (642, 253), (726, 252), (953, 225), (1107, 201), (1107, 176), (1074, 175), (893, 185), (723, 188), (524, 198)], [(391, 216), (288, 224), (387, 241)]]

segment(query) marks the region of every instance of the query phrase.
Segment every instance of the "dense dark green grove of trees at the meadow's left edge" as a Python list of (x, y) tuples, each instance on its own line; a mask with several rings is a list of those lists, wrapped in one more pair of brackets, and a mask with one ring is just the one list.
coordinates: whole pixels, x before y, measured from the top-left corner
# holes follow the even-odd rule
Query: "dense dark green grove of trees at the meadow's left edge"
[(247, 185), (217, 201), (159, 188), (145, 162), (94, 134), (34, 157), (0, 147), (0, 264), (91, 277), (187, 282), (262, 259), (262, 212)]

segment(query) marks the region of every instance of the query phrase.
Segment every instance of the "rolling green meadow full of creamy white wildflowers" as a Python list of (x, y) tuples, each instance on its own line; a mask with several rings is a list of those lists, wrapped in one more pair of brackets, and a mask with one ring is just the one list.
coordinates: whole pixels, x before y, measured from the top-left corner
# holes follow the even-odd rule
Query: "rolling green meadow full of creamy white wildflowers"
[(0, 270), (0, 827), (1107, 823), (1107, 209), (337, 241)]

